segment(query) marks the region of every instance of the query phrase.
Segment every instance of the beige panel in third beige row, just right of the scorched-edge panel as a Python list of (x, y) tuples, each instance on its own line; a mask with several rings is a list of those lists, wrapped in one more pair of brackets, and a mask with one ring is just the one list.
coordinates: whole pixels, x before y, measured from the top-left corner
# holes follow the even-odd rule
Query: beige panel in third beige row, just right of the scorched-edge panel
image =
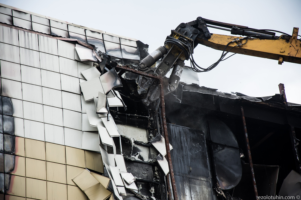
[(47, 199), (46, 181), (26, 178), (26, 197), (33, 199)]

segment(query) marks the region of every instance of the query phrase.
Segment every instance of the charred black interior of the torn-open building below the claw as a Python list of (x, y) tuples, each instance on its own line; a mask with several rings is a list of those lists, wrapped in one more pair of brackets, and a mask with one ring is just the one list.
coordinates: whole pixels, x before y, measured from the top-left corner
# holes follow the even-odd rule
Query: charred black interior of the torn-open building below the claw
[[(141, 58), (146, 50), (147, 45), (140, 43)], [(125, 129), (129, 125), (146, 130), (143, 136), (134, 132), (121, 136), (123, 157), (136, 178), (139, 198), (258, 199), (283, 195), (286, 177), (292, 171), (301, 173), (301, 105), (286, 101), (283, 84), (279, 84), (281, 94), (249, 97), (184, 80), (176, 91), (163, 96), (163, 104), (157, 97), (145, 106), (141, 102), (145, 93), (138, 93), (137, 83), (147, 74), (137, 70), (137, 62), (108, 56), (106, 67), (116, 69), (123, 85), (115, 90), (125, 106), (109, 108), (114, 121)], [(160, 79), (155, 81), (159, 90)], [(163, 161), (159, 150), (166, 154), (165, 119), (173, 175), (168, 155)]]

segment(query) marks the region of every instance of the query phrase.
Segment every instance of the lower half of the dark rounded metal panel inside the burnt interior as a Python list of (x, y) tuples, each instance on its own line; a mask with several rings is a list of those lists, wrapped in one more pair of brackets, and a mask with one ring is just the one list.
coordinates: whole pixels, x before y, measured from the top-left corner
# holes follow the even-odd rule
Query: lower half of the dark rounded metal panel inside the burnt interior
[(239, 149), (212, 143), (212, 151), (216, 178), (222, 190), (237, 186), (242, 176)]

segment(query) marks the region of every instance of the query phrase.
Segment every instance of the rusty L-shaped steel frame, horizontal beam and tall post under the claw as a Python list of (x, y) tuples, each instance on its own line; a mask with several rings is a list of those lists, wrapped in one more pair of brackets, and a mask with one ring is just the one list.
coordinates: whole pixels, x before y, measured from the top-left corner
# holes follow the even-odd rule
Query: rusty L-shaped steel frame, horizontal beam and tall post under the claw
[[(162, 76), (155, 76), (152, 74), (148, 74), (145, 72), (141, 72), (138, 70), (134, 70), (132, 68), (129, 68), (127, 66), (116, 66), (116, 68), (125, 70), (125, 71), (129, 71), (138, 75), (142, 75), (142, 76), (146, 76), (149, 78), (153, 78), (153, 79), (157, 79), (160, 80), (160, 102), (161, 102), (161, 112), (162, 112), (162, 130), (163, 130), (163, 134), (164, 134), (164, 138), (165, 138), (165, 146), (166, 146), (166, 157), (167, 157), (167, 162), (168, 162), (168, 166), (169, 166), (169, 174), (170, 174), (170, 178), (171, 178), (171, 183), (168, 183), (168, 188), (169, 188), (169, 199), (171, 200), (171, 188), (170, 185), (172, 186), (172, 193), (173, 193), (173, 199), (174, 200), (178, 200), (178, 194), (177, 194), (177, 189), (175, 186), (175, 176), (173, 173), (173, 167), (172, 167), (172, 160), (171, 160), (171, 154), (170, 154), (170, 149), (169, 149), (169, 140), (168, 140), (168, 133), (167, 133), (167, 124), (166, 124), (166, 116), (165, 116), (165, 103), (164, 103), (164, 89), (163, 89), (163, 79)], [(169, 182), (169, 178), (167, 178), (168, 182)]]

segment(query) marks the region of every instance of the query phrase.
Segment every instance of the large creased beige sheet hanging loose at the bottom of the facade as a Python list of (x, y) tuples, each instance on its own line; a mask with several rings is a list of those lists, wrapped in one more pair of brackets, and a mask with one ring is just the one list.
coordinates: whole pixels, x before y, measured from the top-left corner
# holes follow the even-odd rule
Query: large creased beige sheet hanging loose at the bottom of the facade
[(72, 180), (90, 200), (104, 200), (112, 194), (87, 169), (80, 172)]

